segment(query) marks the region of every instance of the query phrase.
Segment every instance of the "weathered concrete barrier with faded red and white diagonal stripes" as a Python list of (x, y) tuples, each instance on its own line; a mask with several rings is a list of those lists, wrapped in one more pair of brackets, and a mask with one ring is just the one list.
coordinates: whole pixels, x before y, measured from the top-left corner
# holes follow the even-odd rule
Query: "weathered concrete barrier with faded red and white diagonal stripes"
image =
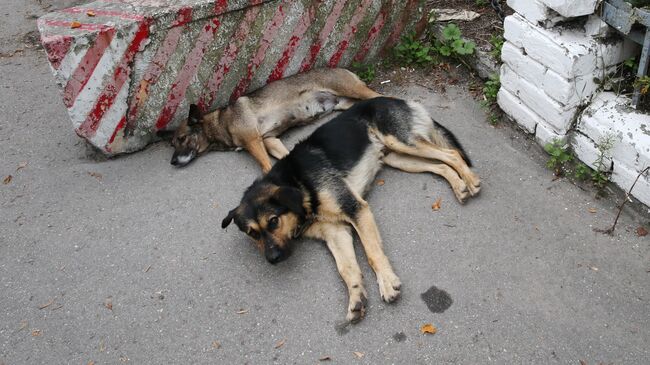
[(425, 24), (423, 0), (104, 0), (38, 20), (75, 131), (107, 155), (142, 149), (192, 103), (370, 62)]

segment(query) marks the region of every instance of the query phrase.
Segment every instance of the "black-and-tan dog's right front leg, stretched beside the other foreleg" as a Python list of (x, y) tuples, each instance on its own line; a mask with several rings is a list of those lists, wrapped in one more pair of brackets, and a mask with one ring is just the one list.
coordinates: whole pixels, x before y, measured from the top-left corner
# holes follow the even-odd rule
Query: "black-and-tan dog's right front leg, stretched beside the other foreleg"
[(357, 202), (358, 207), (352, 217), (352, 226), (361, 239), (370, 267), (375, 271), (381, 298), (387, 303), (394, 302), (399, 298), (402, 283), (384, 253), (379, 229), (368, 203), (361, 197), (357, 197)]

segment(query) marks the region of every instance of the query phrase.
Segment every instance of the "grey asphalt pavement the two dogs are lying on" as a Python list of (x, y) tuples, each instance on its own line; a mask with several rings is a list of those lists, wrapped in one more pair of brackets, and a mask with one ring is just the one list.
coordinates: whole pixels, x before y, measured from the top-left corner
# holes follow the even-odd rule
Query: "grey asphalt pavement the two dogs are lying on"
[(368, 201), (402, 298), (381, 302), (357, 242), (369, 307), (345, 325), (322, 243), (272, 266), (221, 229), (259, 176), (246, 153), (177, 169), (164, 142), (111, 160), (86, 147), (23, 38), (46, 8), (0, 4), (0, 364), (650, 363), (650, 239), (635, 233), (648, 215), (594, 232), (616, 196), (554, 180), (541, 148), (490, 126), (462, 87), (382, 90), (458, 135), (482, 191), (460, 205), (439, 177), (380, 172)]

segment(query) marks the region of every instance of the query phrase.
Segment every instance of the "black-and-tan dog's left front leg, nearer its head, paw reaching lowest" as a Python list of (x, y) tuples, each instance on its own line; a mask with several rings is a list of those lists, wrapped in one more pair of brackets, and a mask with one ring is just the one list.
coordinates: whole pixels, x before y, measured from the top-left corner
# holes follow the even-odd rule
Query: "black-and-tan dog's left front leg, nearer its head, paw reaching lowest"
[[(354, 254), (354, 245), (350, 227), (345, 224), (318, 223), (316, 230), (310, 229), (309, 236), (320, 238), (327, 243), (338, 268), (341, 278), (348, 287), (348, 313), (346, 319), (356, 323), (363, 319), (366, 312), (366, 289), (363, 276)], [(316, 231), (316, 232), (314, 232)]]

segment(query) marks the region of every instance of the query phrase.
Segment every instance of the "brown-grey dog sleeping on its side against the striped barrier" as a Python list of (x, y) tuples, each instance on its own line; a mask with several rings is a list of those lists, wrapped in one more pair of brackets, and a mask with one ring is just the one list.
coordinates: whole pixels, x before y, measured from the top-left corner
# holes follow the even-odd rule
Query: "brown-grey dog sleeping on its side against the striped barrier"
[(185, 166), (208, 150), (244, 148), (268, 172), (269, 153), (277, 159), (289, 153), (277, 138), (282, 132), (377, 96), (348, 70), (316, 69), (272, 82), (209, 114), (192, 105), (172, 138), (171, 163)]

